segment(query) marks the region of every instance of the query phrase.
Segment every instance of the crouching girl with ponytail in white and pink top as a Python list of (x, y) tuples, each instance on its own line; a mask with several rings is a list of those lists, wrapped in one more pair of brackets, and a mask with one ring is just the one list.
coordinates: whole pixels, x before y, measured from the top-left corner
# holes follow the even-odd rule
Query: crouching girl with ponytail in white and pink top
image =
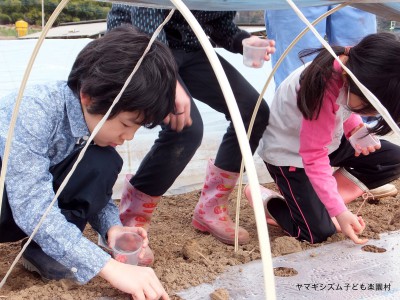
[[(399, 38), (378, 33), (352, 48), (333, 49), (399, 122)], [(365, 127), (360, 115), (377, 112), (327, 50), (300, 56), (314, 53), (313, 62), (279, 86), (271, 106), (259, 154), (283, 197), (262, 188), (264, 207), (300, 240), (318, 243), (341, 230), (355, 243), (365, 243), (358, 237), (363, 219), (345, 204), (400, 176), (400, 147), (374, 138), (391, 131), (381, 116), (374, 127)], [(338, 169), (332, 172), (332, 167)], [(251, 197), (248, 190), (246, 195)]]

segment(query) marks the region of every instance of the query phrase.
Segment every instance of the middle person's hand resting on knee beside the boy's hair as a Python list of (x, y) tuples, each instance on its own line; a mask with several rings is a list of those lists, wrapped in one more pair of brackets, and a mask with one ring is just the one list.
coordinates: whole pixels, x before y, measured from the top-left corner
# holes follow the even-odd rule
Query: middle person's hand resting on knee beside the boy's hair
[(186, 126), (192, 125), (190, 117), (190, 97), (179, 83), (176, 81), (175, 92), (175, 113), (170, 113), (165, 119), (164, 124), (170, 124), (172, 130), (182, 131)]

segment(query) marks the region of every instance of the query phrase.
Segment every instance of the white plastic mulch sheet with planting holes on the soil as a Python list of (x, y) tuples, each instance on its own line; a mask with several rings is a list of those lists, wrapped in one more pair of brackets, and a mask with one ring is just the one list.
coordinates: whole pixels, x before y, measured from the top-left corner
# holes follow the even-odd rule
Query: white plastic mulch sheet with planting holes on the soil
[[(400, 231), (382, 234), (367, 245), (385, 252), (367, 252), (346, 240), (273, 259), (274, 268), (291, 268), (297, 275), (275, 276), (277, 299), (400, 299)], [(178, 295), (185, 300), (209, 299), (226, 289), (230, 299), (265, 299), (261, 261), (228, 269), (211, 284)]]

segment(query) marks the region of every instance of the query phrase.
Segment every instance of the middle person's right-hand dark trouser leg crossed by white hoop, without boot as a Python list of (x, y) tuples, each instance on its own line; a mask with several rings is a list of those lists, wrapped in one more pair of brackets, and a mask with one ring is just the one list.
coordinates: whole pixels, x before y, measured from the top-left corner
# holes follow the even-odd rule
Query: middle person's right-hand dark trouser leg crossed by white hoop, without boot
[[(247, 130), (259, 93), (229, 62), (219, 55), (218, 57), (232, 88), (243, 124)], [(205, 53), (197, 51), (186, 54), (186, 64), (180, 68), (180, 74), (195, 99), (223, 113), (225, 118), (230, 121), (219, 146), (214, 164), (218, 168), (229, 172), (239, 172), (242, 155), (236, 132), (225, 97)], [(269, 108), (266, 101), (262, 101), (249, 141), (252, 153), (258, 147), (261, 136), (268, 125), (268, 119)]]

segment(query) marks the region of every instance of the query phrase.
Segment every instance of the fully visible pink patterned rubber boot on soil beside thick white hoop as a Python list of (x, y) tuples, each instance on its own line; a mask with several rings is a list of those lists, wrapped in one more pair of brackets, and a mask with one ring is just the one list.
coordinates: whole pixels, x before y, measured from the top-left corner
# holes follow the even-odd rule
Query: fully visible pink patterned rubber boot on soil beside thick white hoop
[[(210, 159), (206, 180), (192, 220), (192, 225), (196, 229), (209, 232), (229, 245), (235, 243), (235, 223), (228, 214), (228, 198), (238, 178), (238, 173), (219, 169)], [(241, 227), (239, 227), (238, 241), (241, 245), (250, 241), (249, 233)]]

